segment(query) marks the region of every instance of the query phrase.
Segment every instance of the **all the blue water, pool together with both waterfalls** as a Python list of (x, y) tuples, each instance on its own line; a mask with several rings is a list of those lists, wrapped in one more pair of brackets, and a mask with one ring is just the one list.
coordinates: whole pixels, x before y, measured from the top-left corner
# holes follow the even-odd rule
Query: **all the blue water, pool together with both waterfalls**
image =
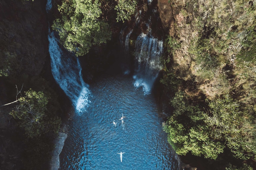
[[(48, 0), (46, 10), (51, 7)], [(162, 41), (143, 34), (137, 39), (136, 51), (147, 55), (136, 56), (133, 77), (127, 76), (129, 73), (102, 76), (89, 86), (83, 82), (78, 58), (64, 54), (50, 30), (48, 40), (53, 77), (76, 111), (60, 154), (59, 170), (178, 169), (150, 94), (161, 69)], [(123, 124), (119, 120), (122, 115)], [(125, 152), (122, 162), (120, 152)]]

